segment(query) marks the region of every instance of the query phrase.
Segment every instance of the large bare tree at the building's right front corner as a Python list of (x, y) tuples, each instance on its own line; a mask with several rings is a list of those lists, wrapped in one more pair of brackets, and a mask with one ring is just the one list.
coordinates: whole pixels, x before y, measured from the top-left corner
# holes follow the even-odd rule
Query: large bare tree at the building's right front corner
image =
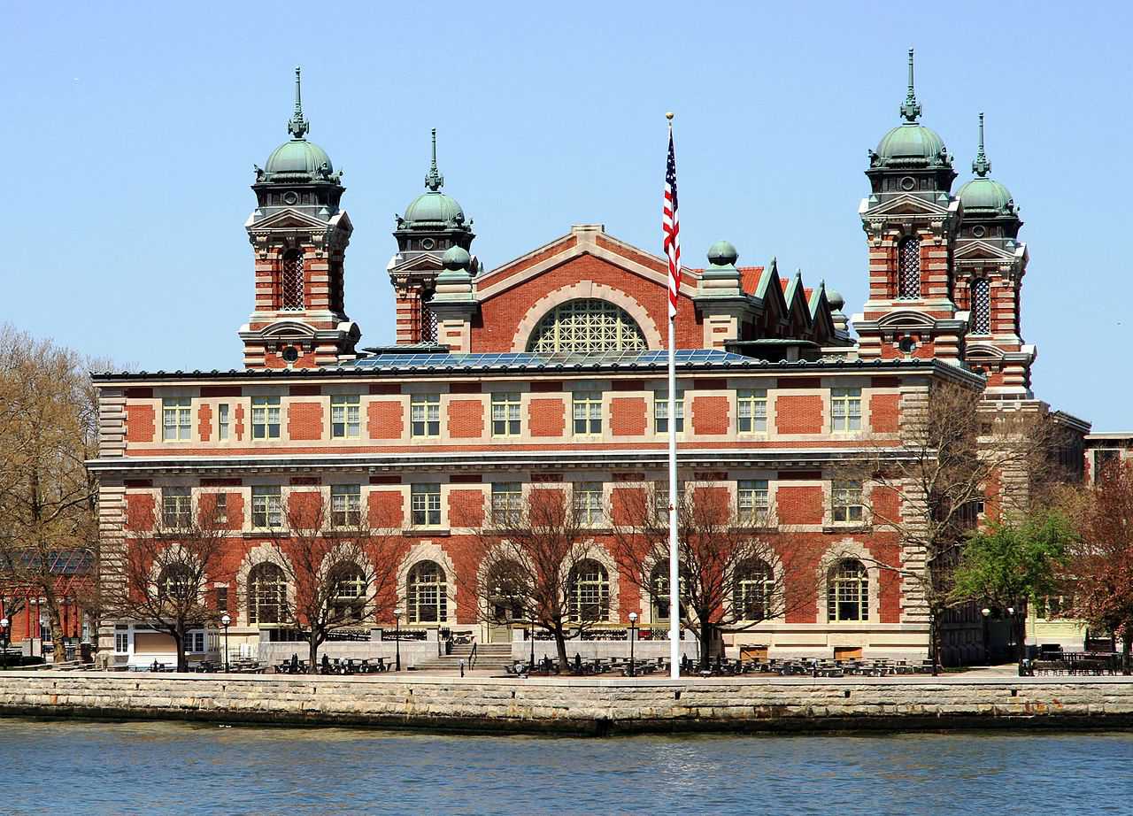
[(900, 575), (906, 603), (923, 607), (934, 672), (942, 615), (960, 603), (953, 572), (968, 534), (981, 510), (1021, 518), (1057, 481), (1059, 434), (1041, 405), (990, 402), (972, 386), (934, 382), (905, 396), (900, 433), (868, 437), (862, 459), (841, 468), (835, 493), (855, 498), (835, 507), (862, 504), (862, 525), (895, 538), (895, 558), (867, 560)]

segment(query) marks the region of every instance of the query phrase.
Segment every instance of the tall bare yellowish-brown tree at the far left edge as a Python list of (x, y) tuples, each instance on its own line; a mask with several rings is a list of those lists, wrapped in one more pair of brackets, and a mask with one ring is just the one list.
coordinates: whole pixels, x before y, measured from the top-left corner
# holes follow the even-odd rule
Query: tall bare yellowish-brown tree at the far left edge
[[(93, 551), (97, 418), (83, 358), (0, 328), (0, 584), (43, 598), (66, 660), (61, 602), (75, 576), (60, 561)], [(87, 559), (88, 560), (88, 559)]]

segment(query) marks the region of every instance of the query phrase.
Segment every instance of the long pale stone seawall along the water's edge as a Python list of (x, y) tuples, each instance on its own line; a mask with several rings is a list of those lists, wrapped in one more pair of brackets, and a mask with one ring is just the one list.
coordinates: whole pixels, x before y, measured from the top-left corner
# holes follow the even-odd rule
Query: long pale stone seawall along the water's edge
[(1133, 725), (1133, 682), (0, 672), (0, 714), (591, 734), (1121, 728)]

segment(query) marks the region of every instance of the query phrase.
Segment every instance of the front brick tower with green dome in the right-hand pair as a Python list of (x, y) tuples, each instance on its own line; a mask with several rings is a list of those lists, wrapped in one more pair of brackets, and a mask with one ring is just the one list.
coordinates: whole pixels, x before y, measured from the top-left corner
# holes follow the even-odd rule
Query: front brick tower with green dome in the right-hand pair
[(938, 358), (960, 364), (966, 315), (953, 300), (952, 241), (960, 203), (944, 141), (920, 124), (909, 49), (904, 121), (869, 151), (870, 195), (859, 214), (869, 241), (869, 299), (854, 315), (864, 359)]

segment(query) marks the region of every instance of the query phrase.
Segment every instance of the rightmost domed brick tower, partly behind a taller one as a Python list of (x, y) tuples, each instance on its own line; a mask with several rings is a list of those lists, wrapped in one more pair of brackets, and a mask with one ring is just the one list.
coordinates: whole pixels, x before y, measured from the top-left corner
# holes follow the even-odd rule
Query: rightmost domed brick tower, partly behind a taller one
[(1037, 350), (1023, 342), (1020, 320), (1028, 262), (1019, 240), (1023, 222), (1011, 192), (989, 176), (982, 113), (972, 172), (976, 178), (956, 194), (964, 216), (954, 252), (955, 299), (970, 315), (964, 359), (987, 375), (989, 397), (1029, 399)]

